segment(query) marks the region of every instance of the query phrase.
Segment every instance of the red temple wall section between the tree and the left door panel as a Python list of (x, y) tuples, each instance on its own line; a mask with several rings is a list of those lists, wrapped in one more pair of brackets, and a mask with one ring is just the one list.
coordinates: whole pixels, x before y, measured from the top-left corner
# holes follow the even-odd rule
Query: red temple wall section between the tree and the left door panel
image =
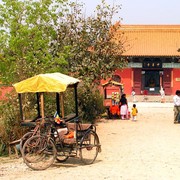
[(124, 93), (130, 95), (133, 86), (132, 68), (118, 69), (115, 74), (121, 77), (121, 83), (124, 84)]

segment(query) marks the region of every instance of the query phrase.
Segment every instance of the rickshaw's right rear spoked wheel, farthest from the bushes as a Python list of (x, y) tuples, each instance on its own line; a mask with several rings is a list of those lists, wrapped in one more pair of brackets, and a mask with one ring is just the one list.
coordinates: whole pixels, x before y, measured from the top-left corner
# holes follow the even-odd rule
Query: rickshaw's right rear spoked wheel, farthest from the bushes
[(92, 164), (99, 152), (99, 138), (93, 131), (86, 133), (80, 143), (80, 159), (84, 164)]

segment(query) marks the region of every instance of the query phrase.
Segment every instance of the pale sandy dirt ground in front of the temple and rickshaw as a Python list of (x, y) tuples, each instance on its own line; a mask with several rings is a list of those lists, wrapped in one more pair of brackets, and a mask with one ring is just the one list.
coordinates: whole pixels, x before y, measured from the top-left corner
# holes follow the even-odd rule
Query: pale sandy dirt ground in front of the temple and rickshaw
[[(129, 104), (131, 107), (132, 104)], [(180, 124), (173, 124), (171, 103), (137, 103), (137, 122), (101, 119), (102, 152), (92, 165), (79, 159), (33, 171), (22, 158), (0, 159), (0, 179), (179, 180)]]

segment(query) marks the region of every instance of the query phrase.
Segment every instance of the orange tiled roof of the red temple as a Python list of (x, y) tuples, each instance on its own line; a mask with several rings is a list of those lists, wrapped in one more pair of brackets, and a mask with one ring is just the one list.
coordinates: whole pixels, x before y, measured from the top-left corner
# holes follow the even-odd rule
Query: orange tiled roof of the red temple
[(121, 25), (124, 56), (180, 56), (180, 25)]

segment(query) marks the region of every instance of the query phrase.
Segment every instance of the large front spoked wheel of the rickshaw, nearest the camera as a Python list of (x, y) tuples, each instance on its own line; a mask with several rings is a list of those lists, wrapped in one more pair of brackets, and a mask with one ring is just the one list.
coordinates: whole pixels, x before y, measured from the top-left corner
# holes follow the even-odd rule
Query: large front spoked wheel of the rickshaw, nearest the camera
[(56, 159), (56, 154), (54, 141), (47, 136), (32, 136), (22, 148), (23, 160), (33, 170), (50, 167)]

